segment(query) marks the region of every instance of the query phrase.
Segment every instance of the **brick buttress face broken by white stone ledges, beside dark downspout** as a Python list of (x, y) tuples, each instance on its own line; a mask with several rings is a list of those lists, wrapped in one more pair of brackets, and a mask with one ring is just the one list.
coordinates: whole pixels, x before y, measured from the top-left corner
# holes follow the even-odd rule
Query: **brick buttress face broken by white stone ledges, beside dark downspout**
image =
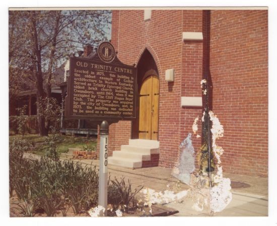
[[(183, 32), (202, 32), (202, 11), (183, 11)], [(200, 81), (202, 80), (203, 41), (182, 42), (182, 97), (201, 97)], [(198, 133), (201, 135), (201, 107), (183, 107), (180, 112), (180, 139), (183, 140), (192, 132), (192, 124), (198, 116)], [(193, 134), (193, 133), (192, 133)], [(201, 137), (192, 136), (194, 152), (201, 146)]]

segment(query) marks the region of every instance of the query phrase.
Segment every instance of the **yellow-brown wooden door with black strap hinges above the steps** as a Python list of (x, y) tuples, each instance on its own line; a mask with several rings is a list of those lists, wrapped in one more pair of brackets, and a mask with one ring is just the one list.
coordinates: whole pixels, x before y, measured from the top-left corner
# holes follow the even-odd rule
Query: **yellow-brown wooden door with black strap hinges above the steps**
[(138, 137), (140, 139), (158, 140), (159, 134), (159, 78), (147, 77), (140, 91), (140, 123)]

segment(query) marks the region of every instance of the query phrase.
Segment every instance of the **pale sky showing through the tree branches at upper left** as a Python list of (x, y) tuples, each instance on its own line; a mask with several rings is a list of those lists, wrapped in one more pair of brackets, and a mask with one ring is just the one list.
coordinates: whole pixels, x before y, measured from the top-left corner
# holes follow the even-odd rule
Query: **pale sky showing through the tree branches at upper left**
[[(38, 28), (42, 27), (42, 25), (45, 25), (45, 18), (48, 18), (48, 14), (47, 14), (47, 8), (45, 8), (45, 13), (42, 14), (44, 15), (44, 19), (41, 19), (39, 20), (38, 22)], [(13, 15), (19, 15), (22, 11), (18, 11), (17, 8), (14, 8), (14, 10), (10, 11), (10, 18), (13, 18)], [(54, 62), (55, 62), (55, 65), (54, 65), (54, 70), (57, 69), (61, 64), (63, 64), (70, 55), (72, 55), (73, 53), (75, 54), (78, 54), (78, 51), (83, 51), (83, 47), (84, 45), (87, 45), (87, 44), (90, 44), (90, 45), (93, 45), (96, 47), (97, 43), (95, 43), (99, 38), (101, 38), (102, 41), (104, 40), (111, 40), (111, 16), (112, 16), (112, 13), (111, 11), (106, 11), (106, 12), (103, 12), (102, 11), (102, 14), (105, 15), (107, 17), (107, 21), (108, 22), (103, 22), (102, 20), (102, 23), (100, 24), (101, 26), (101, 29), (99, 30), (102, 30), (105, 32), (105, 35), (104, 36), (100, 36), (99, 35), (99, 32), (97, 32), (96, 30), (94, 30), (92, 27), (88, 27), (87, 25), (91, 25), (92, 24), (97, 24), (97, 18), (94, 19), (94, 17), (92, 16), (89, 16), (89, 15), (92, 15), (90, 14), (91, 11), (89, 12), (84, 12), (87, 14), (87, 16), (83, 16), (82, 17), (82, 20), (77, 20), (78, 22), (78, 32), (76, 31), (77, 29), (74, 29), (73, 26), (66, 26), (64, 29), (62, 29), (59, 33), (58, 33), (58, 36), (57, 36), (57, 44), (56, 44), (56, 47), (57, 47), (57, 51), (56, 51), (56, 54), (55, 56), (59, 56), (58, 59), (56, 59)], [(100, 11), (98, 11), (99, 13)], [(62, 15), (69, 15), (70, 13), (73, 14), (73, 12), (70, 12), (69, 10), (61, 10), (61, 13)], [(76, 13), (75, 13), (76, 15)], [(72, 19), (73, 17), (71, 17)], [(76, 16), (75, 16), (76, 18)], [(90, 23), (90, 20), (91, 19), (94, 19), (94, 23)], [(80, 21), (82, 21), (82, 23), (80, 23)], [(12, 26), (24, 26), (26, 25), (26, 23), (21, 23), (20, 24), (20, 20), (17, 20), (14, 25), (11, 23), (10, 25)], [(86, 26), (82, 26), (83, 23), (86, 22)], [(51, 21), (51, 23), (53, 24), (54, 22)], [(63, 24), (67, 23), (66, 22), (63, 22)], [(80, 26), (80, 24), (82, 24)], [(17, 27), (18, 29), (22, 28), (22, 27)], [(50, 27), (51, 28), (51, 27)], [(41, 38), (41, 41), (40, 42), (43, 42), (45, 40), (47, 40), (47, 38), (51, 37), (52, 34), (49, 35), (50, 29), (47, 29), (44, 27), (44, 31), (46, 31), (47, 35), (44, 35), (43, 38)], [(28, 34), (30, 33), (31, 29), (22, 29), (20, 30), (21, 34), (22, 34), (22, 37), (24, 36), (28, 36)], [(82, 32), (80, 32), (82, 31)], [(19, 33), (19, 32), (18, 32)], [(41, 34), (42, 32), (40, 32), (39, 34)], [(70, 37), (67, 37), (67, 35), (70, 34)], [(90, 38), (87, 38), (88, 36), (86, 34), (89, 34), (89, 37)], [(41, 35), (42, 36), (42, 35)], [(39, 37), (41, 37), (39, 35)], [(29, 37), (30, 38), (30, 37)], [(60, 40), (62, 39), (71, 39), (72, 41), (71, 42), (68, 42), (68, 44), (65, 44), (65, 40), (60, 42)], [(81, 40), (81, 38), (83, 40)], [(27, 44), (26, 44), (27, 45)], [(28, 48), (25, 50), (27, 51)], [(49, 65), (49, 56), (45, 56), (45, 53), (49, 52), (49, 48), (48, 46), (42, 48), (42, 72), (47, 72), (48, 71), (48, 65)], [(62, 54), (61, 54), (62, 53)], [(12, 66), (16, 66), (16, 65), (12, 65)]]

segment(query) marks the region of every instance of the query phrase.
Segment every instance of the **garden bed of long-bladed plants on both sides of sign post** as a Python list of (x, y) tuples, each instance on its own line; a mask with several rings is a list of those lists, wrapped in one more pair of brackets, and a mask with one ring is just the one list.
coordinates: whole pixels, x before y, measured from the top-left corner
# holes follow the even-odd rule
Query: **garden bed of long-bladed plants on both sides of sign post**
[[(88, 211), (98, 206), (96, 167), (59, 160), (55, 154), (23, 158), (29, 145), (22, 139), (10, 145), (11, 216), (88, 216)], [(109, 215), (115, 215), (122, 206), (126, 210), (136, 208), (135, 195), (141, 189), (138, 186), (132, 190), (130, 181), (125, 182), (124, 178), (109, 178), (108, 203), (113, 209)]]

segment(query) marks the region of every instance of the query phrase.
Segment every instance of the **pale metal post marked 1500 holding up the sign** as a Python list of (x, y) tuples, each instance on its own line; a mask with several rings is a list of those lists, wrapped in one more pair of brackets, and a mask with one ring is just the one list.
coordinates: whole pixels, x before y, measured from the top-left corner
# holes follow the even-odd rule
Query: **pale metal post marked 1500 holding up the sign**
[(107, 121), (103, 121), (100, 125), (98, 205), (101, 205), (105, 208), (104, 216), (107, 216), (108, 205), (108, 135), (109, 124)]

